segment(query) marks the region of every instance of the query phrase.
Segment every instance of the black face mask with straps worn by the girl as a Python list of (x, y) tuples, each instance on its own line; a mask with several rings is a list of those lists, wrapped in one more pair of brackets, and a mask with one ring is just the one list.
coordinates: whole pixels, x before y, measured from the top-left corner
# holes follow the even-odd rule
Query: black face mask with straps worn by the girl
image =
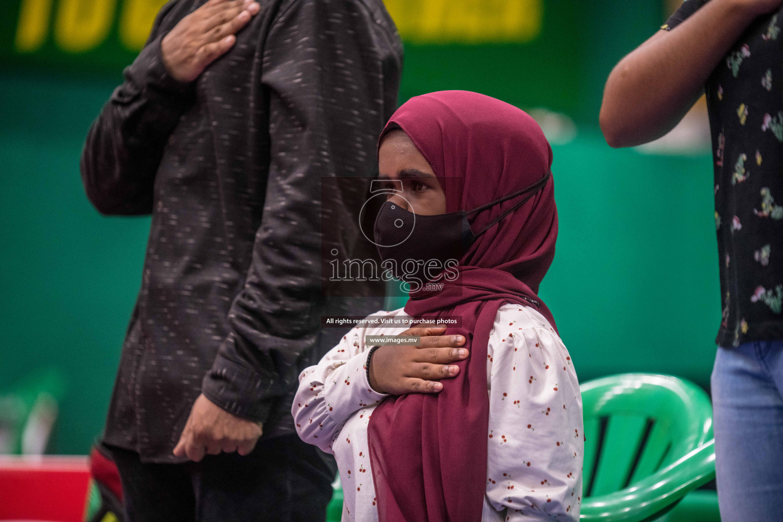
[[(478, 236), (489, 230), (498, 221), (524, 205), (535, 196), (552, 175), (547, 172), (543, 178), (525, 189), (503, 196), (499, 200), (474, 208), (471, 211), (456, 211), (448, 214), (420, 215), (406, 211), (398, 204), (387, 201), (375, 218), (375, 243), (381, 261), (395, 261), (395, 277), (397, 279), (434, 279), (434, 275), (457, 262)], [(525, 198), (489, 221), (479, 232), (471, 229), (468, 216), (490, 207), (511, 200), (514, 197), (527, 194)], [(449, 261), (456, 260), (456, 261)], [(414, 270), (416, 265), (417, 269)], [(439, 267), (439, 269), (438, 269)], [(423, 277), (422, 277), (423, 275)]]

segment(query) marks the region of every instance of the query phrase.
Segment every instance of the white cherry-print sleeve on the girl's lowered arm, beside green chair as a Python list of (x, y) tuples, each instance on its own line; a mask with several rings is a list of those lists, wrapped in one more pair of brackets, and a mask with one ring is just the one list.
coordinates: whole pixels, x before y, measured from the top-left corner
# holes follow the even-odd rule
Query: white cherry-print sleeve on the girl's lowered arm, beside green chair
[(487, 499), (507, 518), (579, 520), (583, 422), (568, 350), (536, 312), (507, 304), (489, 337)]

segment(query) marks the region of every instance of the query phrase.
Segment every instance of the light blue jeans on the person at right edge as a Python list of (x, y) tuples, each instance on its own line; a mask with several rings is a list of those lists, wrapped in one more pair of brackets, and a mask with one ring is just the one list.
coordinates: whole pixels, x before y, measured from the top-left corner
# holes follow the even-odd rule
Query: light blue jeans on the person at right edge
[(718, 348), (712, 376), (723, 522), (783, 522), (783, 341)]

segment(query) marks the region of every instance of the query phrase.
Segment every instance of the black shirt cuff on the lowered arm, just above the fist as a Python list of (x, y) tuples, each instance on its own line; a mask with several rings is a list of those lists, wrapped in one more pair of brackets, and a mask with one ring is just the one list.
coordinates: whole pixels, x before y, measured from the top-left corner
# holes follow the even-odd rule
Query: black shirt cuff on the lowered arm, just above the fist
[(273, 394), (276, 380), (236, 364), (218, 354), (204, 376), (201, 393), (220, 408), (237, 417), (265, 423), (280, 398)]

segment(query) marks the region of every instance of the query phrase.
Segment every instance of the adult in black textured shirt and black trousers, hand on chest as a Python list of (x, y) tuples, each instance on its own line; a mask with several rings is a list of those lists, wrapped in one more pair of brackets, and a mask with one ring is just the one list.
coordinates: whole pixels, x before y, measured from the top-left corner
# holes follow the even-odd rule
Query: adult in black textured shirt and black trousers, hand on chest
[(152, 215), (103, 435), (126, 520), (324, 520), (334, 463), (294, 432), (296, 376), (341, 335), (323, 313), (381, 300), (323, 294), (321, 182), (360, 178), (330, 195), (359, 208), (401, 68), (381, 0), (158, 13), (81, 159), (102, 214)]

